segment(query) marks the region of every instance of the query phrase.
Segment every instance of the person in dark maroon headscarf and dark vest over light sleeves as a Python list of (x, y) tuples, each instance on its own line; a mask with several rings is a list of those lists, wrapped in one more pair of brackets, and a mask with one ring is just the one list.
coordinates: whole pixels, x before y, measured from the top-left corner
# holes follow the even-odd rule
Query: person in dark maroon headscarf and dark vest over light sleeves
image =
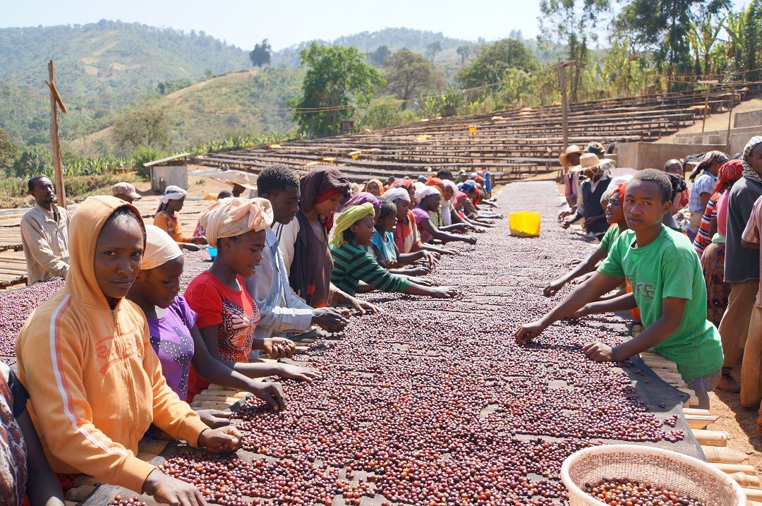
[(377, 311), (338, 290), (331, 284), (333, 258), (328, 249), (328, 232), (341, 199), (349, 197), (351, 183), (335, 167), (313, 167), (299, 181), (299, 212), (287, 225), (277, 224), (273, 232), (283, 252), (283, 263), (293, 291), (312, 307), (334, 302), (347, 303), (360, 311)]

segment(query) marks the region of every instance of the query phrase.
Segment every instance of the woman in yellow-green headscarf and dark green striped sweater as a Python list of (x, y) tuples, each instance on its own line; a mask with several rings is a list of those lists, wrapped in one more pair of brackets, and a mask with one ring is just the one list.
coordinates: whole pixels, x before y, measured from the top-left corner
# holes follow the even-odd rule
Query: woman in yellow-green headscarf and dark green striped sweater
[(334, 259), (331, 283), (350, 295), (357, 293), (360, 281), (383, 292), (427, 295), (439, 299), (455, 295), (454, 287), (424, 287), (381, 267), (367, 251), (376, 233), (375, 221), (372, 203), (349, 207), (338, 216), (331, 239)]

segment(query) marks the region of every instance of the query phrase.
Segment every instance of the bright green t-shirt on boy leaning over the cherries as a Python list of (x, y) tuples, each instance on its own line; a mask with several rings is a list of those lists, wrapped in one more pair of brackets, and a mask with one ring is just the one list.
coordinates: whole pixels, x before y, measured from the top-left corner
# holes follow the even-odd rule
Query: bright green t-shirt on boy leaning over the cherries
[(635, 232), (625, 230), (598, 272), (627, 278), (646, 327), (661, 318), (661, 299), (688, 299), (680, 327), (654, 347), (677, 363), (684, 380), (706, 376), (722, 367), (719, 332), (706, 319), (706, 284), (701, 265), (685, 235), (662, 225), (654, 242), (636, 248)]

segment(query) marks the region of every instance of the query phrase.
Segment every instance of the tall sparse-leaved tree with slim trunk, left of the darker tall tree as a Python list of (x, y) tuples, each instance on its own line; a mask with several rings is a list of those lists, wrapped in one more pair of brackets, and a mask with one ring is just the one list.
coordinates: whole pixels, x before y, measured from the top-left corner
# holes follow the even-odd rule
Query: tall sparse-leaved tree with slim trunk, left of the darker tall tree
[(568, 58), (577, 61), (569, 83), (571, 101), (576, 102), (590, 59), (589, 43), (597, 40), (597, 27), (610, 14), (610, 0), (540, 0), (539, 10), (543, 38), (565, 44)]

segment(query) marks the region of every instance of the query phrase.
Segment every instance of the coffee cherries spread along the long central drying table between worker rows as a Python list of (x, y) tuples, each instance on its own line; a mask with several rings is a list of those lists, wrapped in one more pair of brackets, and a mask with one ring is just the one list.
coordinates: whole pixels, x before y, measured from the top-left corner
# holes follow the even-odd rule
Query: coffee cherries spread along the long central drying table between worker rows
[(353, 319), (341, 339), (296, 357), (322, 380), (283, 382), (282, 413), (243, 402), (241, 461), (189, 453), (167, 472), (219, 504), (566, 504), (559, 470), (576, 450), (682, 440), (674, 417), (639, 401), (616, 367), (626, 364), (581, 351), (620, 343), (613, 319), (559, 322), (533, 344), (514, 343), (521, 323), (571, 290), (547, 299), (548, 280), (593, 246), (555, 223), (552, 184), (511, 185), (499, 201), (506, 214), (548, 217), (542, 235), (512, 237), (503, 219), (475, 246), (459, 243), (462, 255), (430, 276), (458, 287), (454, 299), (363, 295), (382, 314)]

